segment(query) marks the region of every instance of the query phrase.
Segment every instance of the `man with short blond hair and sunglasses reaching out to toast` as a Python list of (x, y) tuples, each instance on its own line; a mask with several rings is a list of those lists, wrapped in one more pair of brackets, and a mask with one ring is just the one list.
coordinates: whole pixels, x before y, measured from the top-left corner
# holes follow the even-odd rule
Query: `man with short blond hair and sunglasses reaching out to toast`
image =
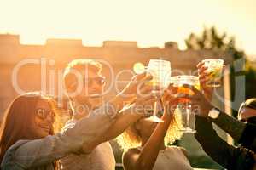
[[(151, 78), (152, 76), (146, 73), (133, 77), (125, 89), (115, 97), (119, 101), (119, 108), (123, 108), (125, 104), (131, 103), (134, 99), (136, 99), (136, 105), (153, 105), (155, 99), (150, 94), (152, 88), (145, 84)], [(64, 130), (67, 130), (73, 128), (81, 118), (90, 116), (90, 111), (102, 105), (103, 89), (106, 80), (102, 76), (102, 65), (99, 62), (92, 59), (74, 59), (65, 69), (64, 81), (67, 96), (72, 101), (73, 108), (72, 119), (63, 127)], [(137, 87), (141, 87), (139, 90), (142, 94), (149, 95), (139, 96), (137, 94)], [(131, 110), (132, 108), (129, 109), (129, 111)], [(101, 126), (101, 120), (99, 119), (99, 123), (96, 122), (96, 125), (94, 125), (96, 126), (95, 133), (90, 134), (97, 136), (97, 140), (90, 145), (84, 144), (83, 150), (79, 153), (73, 153), (62, 158), (62, 169), (114, 169), (113, 150), (108, 140), (114, 139), (125, 131), (125, 128), (129, 127), (131, 123), (141, 118), (141, 116), (136, 116), (136, 114), (125, 112), (119, 114), (116, 121), (110, 125), (108, 131), (102, 136), (99, 136), (97, 132), (97, 126)]]

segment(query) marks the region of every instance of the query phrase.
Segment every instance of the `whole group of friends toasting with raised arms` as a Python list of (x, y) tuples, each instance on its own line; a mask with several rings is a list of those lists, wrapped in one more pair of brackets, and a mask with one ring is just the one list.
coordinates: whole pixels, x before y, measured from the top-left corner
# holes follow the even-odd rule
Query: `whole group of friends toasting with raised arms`
[[(256, 99), (241, 104), (238, 119), (229, 116), (211, 103), (214, 89), (207, 87), (207, 67), (200, 63), (197, 68), (201, 90), (188, 85), (193, 94), (182, 94), (170, 84), (156, 97), (152, 93), (155, 87), (148, 83), (153, 77), (143, 72), (132, 77), (119, 94), (102, 102), (101, 95), (89, 95), (103, 94), (106, 79), (102, 65), (92, 59), (74, 59), (63, 77), (69, 120), (63, 121), (57, 99), (49, 95), (30, 92), (17, 96), (1, 124), (1, 169), (113, 170), (116, 163), (108, 141), (117, 137), (124, 149), (125, 170), (193, 169), (188, 151), (172, 145), (182, 136), (181, 120), (174, 114), (179, 98), (190, 99), (192, 110), (200, 107), (195, 139), (212, 160), (226, 169), (256, 169)], [(83, 83), (74, 71), (79, 72)], [(78, 87), (81, 90), (76, 93)], [(154, 111), (149, 106), (159, 100), (157, 116), (163, 122), (152, 122), (149, 116)], [(56, 129), (59, 122), (64, 124)], [(212, 122), (239, 145), (221, 139)]]

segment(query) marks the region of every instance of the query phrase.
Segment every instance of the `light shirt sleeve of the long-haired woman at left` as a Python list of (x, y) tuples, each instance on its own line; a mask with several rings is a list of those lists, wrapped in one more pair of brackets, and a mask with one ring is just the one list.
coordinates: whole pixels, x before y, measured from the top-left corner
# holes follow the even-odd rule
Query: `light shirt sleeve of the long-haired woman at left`
[(73, 127), (56, 133), (54, 136), (35, 140), (20, 140), (7, 150), (1, 169), (5, 169), (5, 165), (11, 164), (19, 165), (24, 169), (38, 167), (80, 150), (83, 144), (93, 143), (98, 135), (102, 135), (108, 130), (108, 127), (114, 122), (115, 114), (112, 105), (102, 105), (89, 117), (81, 119)]

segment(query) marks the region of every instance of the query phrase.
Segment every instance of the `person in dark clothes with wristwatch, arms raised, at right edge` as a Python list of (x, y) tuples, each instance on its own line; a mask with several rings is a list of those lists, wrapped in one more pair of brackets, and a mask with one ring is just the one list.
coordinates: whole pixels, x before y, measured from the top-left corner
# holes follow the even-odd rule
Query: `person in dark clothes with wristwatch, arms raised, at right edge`
[[(180, 95), (183, 98), (191, 99), (192, 110), (196, 114), (195, 139), (198, 140), (208, 156), (227, 169), (256, 169), (255, 147), (253, 146), (256, 124), (239, 121), (253, 119), (256, 113), (252, 106), (255, 105), (255, 99), (248, 99), (241, 105), (238, 114), (239, 120), (225, 114), (210, 103), (213, 89), (208, 88), (206, 85), (207, 74), (204, 72), (205, 70), (207, 70), (207, 67), (204, 67), (202, 64), (198, 65), (202, 92), (186, 85), (187, 88), (194, 92), (194, 95), (178, 94), (178, 96)], [(227, 144), (213, 129), (212, 122), (217, 124), (226, 133), (230, 133), (241, 145)]]

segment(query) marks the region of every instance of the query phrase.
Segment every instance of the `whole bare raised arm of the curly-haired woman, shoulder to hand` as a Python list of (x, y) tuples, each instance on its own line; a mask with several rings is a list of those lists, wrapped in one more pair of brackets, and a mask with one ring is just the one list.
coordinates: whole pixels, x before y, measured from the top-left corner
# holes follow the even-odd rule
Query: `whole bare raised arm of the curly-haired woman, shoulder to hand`
[(165, 109), (164, 115), (161, 117), (161, 119), (164, 122), (158, 123), (141, 152), (138, 150), (129, 150), (125, 153), (123, 163), (126, 170), (148, 170), (154, 167), (160, 147), (164, 142), (166, 131), (168, 130), (170, 122), (172, 121), (174, 108), (177, 106), (177, 100), (174, 99), (172, 95), (169, 95), (171, 94), (171, 90), (173, 90), (173, 88), (171, 89), (171, 87), (169, 87), (169, 89), (170, 91), (166, 90), (163, 96), (163, 104)]

